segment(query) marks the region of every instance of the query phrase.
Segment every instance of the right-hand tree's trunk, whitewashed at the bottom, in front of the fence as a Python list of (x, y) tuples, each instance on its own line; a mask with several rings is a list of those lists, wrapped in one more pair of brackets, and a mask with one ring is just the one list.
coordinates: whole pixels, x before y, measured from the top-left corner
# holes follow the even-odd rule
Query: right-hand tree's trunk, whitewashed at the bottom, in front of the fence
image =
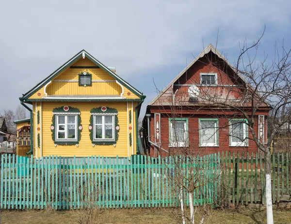
[(274, 224), (272, 207), (272, 188), (271, 188), (271, 153), (265, 153), (266, 160), (266, 206), (267, 206), (267, 224)]

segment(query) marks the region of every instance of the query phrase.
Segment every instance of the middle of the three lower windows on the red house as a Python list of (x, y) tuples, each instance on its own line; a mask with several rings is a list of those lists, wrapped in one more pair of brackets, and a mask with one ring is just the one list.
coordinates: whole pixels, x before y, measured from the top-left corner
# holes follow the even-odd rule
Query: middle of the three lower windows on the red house
[(218, 119), (199, 119), (200, 146), (218, 146)]

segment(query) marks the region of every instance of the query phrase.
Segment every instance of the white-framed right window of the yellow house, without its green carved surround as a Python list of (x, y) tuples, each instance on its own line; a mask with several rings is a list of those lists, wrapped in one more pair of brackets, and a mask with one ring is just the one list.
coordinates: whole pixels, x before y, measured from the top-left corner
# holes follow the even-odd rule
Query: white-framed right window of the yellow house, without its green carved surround
[(112, 139), (114, 136), (114, 116), (113, 115), (95, 115), (95, 136), (94, 140)]

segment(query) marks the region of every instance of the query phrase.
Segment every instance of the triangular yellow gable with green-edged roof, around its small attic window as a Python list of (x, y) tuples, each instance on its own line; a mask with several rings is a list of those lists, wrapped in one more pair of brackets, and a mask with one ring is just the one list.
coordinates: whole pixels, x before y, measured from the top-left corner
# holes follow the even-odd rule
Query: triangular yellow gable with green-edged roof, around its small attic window
[[(91, 85), (80, 85), (79, 76), (83, 74), (91, 76)], [(139, 101), (144, 97), (84, 50), (23, 96), (26, 101), (61, 101), (74, 98), (82, 98), (83, 101), (105, 98)]]

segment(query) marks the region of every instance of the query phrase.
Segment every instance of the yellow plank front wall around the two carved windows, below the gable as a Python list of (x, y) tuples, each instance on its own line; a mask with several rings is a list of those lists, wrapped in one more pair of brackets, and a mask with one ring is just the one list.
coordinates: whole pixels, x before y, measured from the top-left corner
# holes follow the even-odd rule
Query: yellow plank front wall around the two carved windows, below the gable
[[(129, 102), (131, 104), (131, 102)], [(81, 110), (81, 124), (83, 130), (81, 132), (81, 140), (79, 147), (73, 146), (60, 146), (54, 147), (52, 141), (50, 125), (52, 124), (52, 110), (55, 107), (60, 106), (72, 106), (77, 107)], [(98, 146), (92, 147), (90, 139), (90, 132), (88, 130), (90, 120), (90, 110), (99, 106), (108, 106), (117, 109), (118, 111), (118, 124), (120, 126), (119, 137), (116, 143), (116, 147), (111, 146)], [(102, 156), (128, 156), (128, 117), (127, 117), (127, 102), (43, 102), (42, 103), (42, 151), (43, 156), (47, 155), (58, 155), (58, 156), (91, 156), (91, 155), (102, 155)], [(133, 125), (133, 123), (132, 123)], [(134, 129), (135, 130), (135, 129)], [(134, 141), (132, 141), (133, 143)], [(135, 146), (134, 146), (135, 148)], [(136, 151), (134, 149), (134, 151)], [(129, 156), (132, 151), (129, 151)]]

